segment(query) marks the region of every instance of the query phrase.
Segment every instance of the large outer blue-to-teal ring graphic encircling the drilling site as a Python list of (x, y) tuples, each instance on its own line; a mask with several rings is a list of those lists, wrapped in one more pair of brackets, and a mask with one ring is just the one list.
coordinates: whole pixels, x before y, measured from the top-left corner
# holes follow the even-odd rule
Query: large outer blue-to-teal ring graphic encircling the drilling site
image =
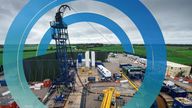
[[(23, 48), (34, 24), (54, 7), (73, 0), (30, 0), (12, 23), (4, 45), (3, 65), (8, 88), (21, 108), (44, 108), (29, 89), (23, 71)], [(126, 14), (142, 34), (147, 50), (147, 69), (139, 93), (126, 104), (149, 108), (159, 94), (166, 72), (166, 47), (158, 23), (138, 0), (97, 0)], [(120, 41), (122, 42), (123, 40)], [(127, 42), (127, 44), (129, 44)], [(128, 52), (128, 51), (127, 51)]]

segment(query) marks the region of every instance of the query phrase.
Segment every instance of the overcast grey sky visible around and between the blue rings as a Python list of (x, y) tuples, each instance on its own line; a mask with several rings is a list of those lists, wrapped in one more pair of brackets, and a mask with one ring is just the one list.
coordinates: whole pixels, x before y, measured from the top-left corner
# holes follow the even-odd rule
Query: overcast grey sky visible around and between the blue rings
[[(192, 0), (141, 1), (155, 16), (167, 44), (192, 43)], [(27, 2), (28, 0), (0, 0), (0, 44), (4, 43), (11, 22)], [(125, 30), (132, 43), (143, 43), (137, 27), (119, 10), (92, 0), (77, 0), (68, 3), (68, 5), (74, 10), (66, 15), (79, 12), (99, 13), (118, 23)], [(45, 14), (35, 24), (26, 40), (27, 44), (40, 42), (49, 28), (49, 21), (53, 20), (57, 8)], [(119, 43), (119, 40), (110, 30), (95, 23), (84, 22), (70, 25), (69, 35), (72, 43)]]

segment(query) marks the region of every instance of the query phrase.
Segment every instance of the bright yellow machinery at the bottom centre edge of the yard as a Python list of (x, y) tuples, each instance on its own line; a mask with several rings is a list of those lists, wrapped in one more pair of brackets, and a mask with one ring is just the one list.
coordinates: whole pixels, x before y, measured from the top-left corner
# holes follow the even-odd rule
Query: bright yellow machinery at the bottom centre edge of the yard
[(101, 108), (111, 108), (111, 102), (113, 99), (120, 96), (120, 92), (117, 92), (114, 87), (103, 90), (103, 94), (104, 97), (101, 103)]

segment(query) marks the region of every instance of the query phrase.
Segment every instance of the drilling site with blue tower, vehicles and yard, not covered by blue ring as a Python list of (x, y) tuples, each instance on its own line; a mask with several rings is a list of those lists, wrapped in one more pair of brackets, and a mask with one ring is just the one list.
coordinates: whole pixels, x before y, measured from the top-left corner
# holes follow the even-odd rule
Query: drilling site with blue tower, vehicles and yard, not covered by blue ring
[[(62, 5), (53, 15), (54, 21), (47, 21), (55, 41), (49, 46), (49, 53), (23, 60), (31, 91), (48, 108), (123, 108), (142, 85), (146, 57), (141, 53), (119, 51), (121, 45), (71, 44), (68, 26), (63, 22), (65, 11), (70, 9)], [(36, 47), (25, 46), (31, 51)], [(108, 47), (113, 50), (106, 50)], [(172, 47), (168, 46), (169, 50)], [(192, 108), (191, 66), (167, 61), (161, 91), (151, 108)], [(0, 108), (19, 108), (7, 87), (3, 65), (0, 67)]]

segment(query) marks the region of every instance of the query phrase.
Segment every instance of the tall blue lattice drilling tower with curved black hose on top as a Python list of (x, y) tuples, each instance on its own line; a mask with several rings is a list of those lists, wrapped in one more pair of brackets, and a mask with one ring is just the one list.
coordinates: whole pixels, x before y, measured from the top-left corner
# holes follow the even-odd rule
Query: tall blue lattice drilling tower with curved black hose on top
[(70, 68), (72, 67), (72, 60), (69, 57), (70, 41), (67, 30), (67, 24), (63, 22), (63, 15), (66, 9), (70, 10), (68, 5), (62, 5), (55, 16), (55, 21), (50, 23), (52, 28), (52, 39), (56, 42), (56, 58), (59, 64), (60, 75), (57, 78), (57, 83), (70, 83)]

